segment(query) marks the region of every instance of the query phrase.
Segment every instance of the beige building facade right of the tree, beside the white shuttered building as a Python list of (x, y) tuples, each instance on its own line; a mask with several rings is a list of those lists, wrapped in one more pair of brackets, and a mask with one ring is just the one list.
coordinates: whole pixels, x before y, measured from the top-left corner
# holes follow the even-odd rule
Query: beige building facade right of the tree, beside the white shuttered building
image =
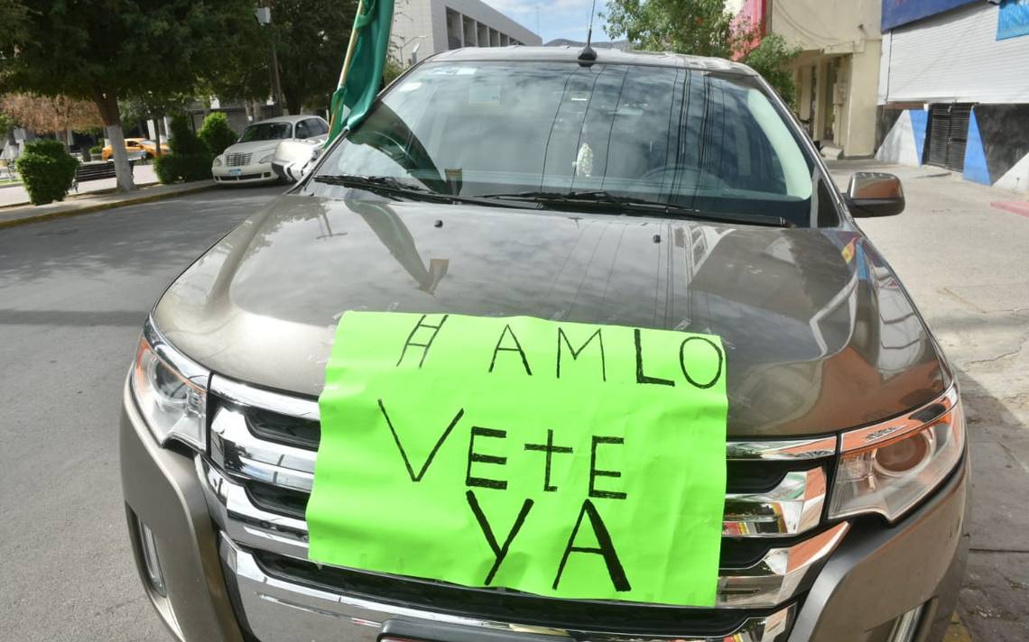
[(731, 0), (741, 24), (801, 47), (796, 113), (827, 155), (875, 152), (881, 0)]

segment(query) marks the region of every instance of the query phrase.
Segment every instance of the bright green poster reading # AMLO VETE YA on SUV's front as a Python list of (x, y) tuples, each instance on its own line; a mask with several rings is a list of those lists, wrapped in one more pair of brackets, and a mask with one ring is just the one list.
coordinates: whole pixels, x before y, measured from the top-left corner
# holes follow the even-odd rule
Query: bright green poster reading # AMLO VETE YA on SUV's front
[(347, 312), (319, 400), (310, 558), (713, 606), (725, 366), (707, 335)]

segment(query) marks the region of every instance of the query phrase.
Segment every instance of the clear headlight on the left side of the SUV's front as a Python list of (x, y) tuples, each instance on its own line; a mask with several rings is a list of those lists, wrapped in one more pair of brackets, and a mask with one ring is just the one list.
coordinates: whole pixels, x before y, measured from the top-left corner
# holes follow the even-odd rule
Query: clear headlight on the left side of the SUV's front
[(174, 439), (201, 451), (206, 449), (204, 417), (210, 376), (169, 345), (147, 319), (136, 351), (132, 390), (158, 444), (164, 446)]

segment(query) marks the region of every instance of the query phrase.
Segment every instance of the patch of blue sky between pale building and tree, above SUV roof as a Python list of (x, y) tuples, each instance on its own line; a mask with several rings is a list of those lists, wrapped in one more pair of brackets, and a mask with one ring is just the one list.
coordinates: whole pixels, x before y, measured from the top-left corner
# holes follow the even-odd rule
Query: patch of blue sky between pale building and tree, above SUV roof
[[(534, 31), (549, 42), (555, 38), (586, 40), (590, 25), (590, 7), (593, 0), (483, 0), (508, 17), (518, 21), (530, 31)], [(597, 12), (606, 8), (604, 0), (597, 0)], [(539, 15), (537, 28), (537, 9)], [(609, 40), (604, 33), (604, 24), (597, 17), (593, 25), (593, 38), (597, 41)]]

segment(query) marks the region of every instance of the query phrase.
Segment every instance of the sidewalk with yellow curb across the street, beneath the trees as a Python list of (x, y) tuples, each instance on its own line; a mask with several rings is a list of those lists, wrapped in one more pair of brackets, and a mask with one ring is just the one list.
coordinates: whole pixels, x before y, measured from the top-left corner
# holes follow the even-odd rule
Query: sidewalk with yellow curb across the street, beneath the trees
[[(138, 173), (138, 169), (137, 169)], [(138, 174), (137, 174), (138, 176)], [(113, 179), (111, 179), (113, 181)], [(96, 181), (106, 183), (107, 181)], [(138, 185), (138, 184), (137, 184)], [(92, 192), (70, 195), (61, 202), (52, 202), (46, 205), (7, 205), (0, 206), (0, 229), (22, 225), (24, 223), (34, 223), (48, 219), (60, 219), (64, 217), (87, 214), (90, 212), (100, 212), (121, 205), (148, 202), (171, 198), (182, 194), (189, 194), (201, 190), (215, 187), (214, 181), (197, 181), (193, 183), (183, 183), (180, 185), (149, 185), (141, 187), (134, 192), (116, 193), (113, 185), (106, 190), (93, 190)], [(9, 188), (11, 191), (14, 188)], [(7, 191), (7, 190), (0, 190)]]

